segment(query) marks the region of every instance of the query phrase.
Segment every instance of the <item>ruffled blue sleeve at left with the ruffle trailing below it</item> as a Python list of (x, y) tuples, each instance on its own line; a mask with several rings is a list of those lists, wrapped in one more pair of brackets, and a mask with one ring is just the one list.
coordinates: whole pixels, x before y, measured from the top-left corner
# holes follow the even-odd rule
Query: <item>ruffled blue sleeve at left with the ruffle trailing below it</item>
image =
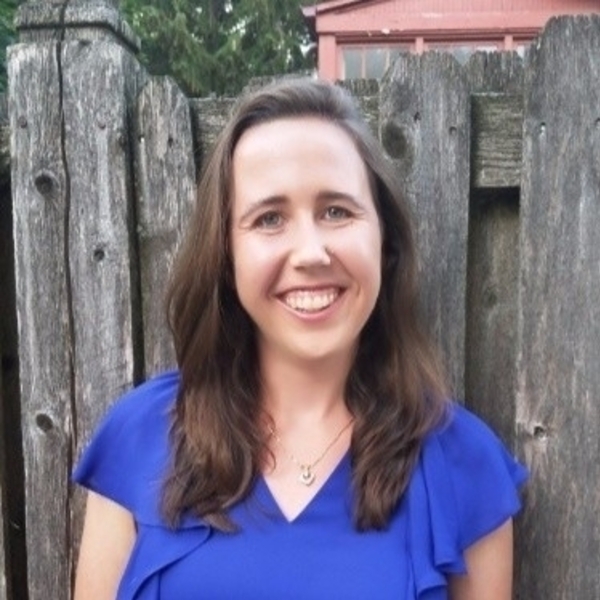
[(108, 411), (84, 451), (73, 480), (133, 514), (137, 539), (117, 600), (156, 600), (157, 575), (203, 544), (210, 528), (186, 517), (177, 529), (163, 521), (161, 489), (169, 467), (169, 413), (177, 394), (176, 372), (135, 388)]

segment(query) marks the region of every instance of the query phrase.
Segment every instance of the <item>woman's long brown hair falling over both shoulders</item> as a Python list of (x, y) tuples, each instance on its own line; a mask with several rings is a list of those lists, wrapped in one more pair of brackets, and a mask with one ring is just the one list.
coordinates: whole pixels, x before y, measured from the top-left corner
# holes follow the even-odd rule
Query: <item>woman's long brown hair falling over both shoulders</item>
[(242, 98), (216, 143), (167, 296), (181, 381), (163, 510), (175, 525), (192, 512), (230, 530), (227, 509), (243, 499), (265, 453), (254, 325), (233, 287), (228, 230), (232, 159), (249, 128), (286, 117), (335, 123), (363, 158), (383, 228), (382, 287), (361, 333), (345, 399), (355, 523), (385, 527), (406, 489), (423, 437), (444, 413), (438, 361), (418, 324), (417, 264), (409, 211), (390, 163), (352, 98), (332, 84), (285, 80)]

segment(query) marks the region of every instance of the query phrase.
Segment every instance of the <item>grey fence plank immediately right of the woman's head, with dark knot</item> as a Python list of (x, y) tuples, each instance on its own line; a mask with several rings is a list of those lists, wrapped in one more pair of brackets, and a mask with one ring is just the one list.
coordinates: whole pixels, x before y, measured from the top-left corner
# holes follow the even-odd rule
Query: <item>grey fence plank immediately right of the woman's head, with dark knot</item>
[(401, 55), (381, 88), (381, 141), (417, 225), (425, 324), (464, 393), (469, 88), (447, 54)]

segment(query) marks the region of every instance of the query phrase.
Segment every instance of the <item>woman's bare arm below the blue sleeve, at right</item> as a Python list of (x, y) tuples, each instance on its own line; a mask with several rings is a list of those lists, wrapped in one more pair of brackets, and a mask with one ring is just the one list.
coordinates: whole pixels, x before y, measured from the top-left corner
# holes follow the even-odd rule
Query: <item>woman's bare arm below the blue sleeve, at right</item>
[(509, 519), (465, 551), (466, 575), (450, 578), (451, 600), (512, 598), (513, 527)]

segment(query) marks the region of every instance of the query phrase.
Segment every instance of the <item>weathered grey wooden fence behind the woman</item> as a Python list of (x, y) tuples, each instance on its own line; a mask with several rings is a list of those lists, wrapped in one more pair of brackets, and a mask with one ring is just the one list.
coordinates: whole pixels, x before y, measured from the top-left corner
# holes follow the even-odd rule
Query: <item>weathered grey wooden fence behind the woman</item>
[[(162, 290), (232, 101), (148, 76), (116, 2), (25, 3), (19, 27), (0, 212), (0, 598), (60, 600), (81, 525), (71, 468), (111, 401), (173, 362)], [(531, 470), (515, 597), (597, 600), (600, 18), (552, 20), (525, 60), (407, 55), (351, 89), (414, 207), (454, 388)]]

